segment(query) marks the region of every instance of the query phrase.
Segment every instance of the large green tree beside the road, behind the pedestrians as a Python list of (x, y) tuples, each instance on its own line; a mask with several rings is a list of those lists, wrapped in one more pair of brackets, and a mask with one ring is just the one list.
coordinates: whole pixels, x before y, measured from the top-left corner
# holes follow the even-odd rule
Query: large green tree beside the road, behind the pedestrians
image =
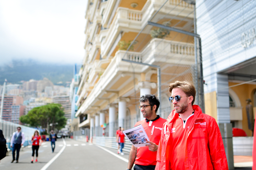
[[(52, 124), (54, 128), (60, 130), (66, 125), (67, 119), (64, 117), (64, 111), (60, 104), (48, 104), (40, 107), (35, 107), (30, 110), (27, 115), (20, 117), (20, 120), (24, 124), (28, 124), (32, 127), (42, 127), (47, 129), (49, 124)], [(58, 123), (58, 125), (55, 125)]]

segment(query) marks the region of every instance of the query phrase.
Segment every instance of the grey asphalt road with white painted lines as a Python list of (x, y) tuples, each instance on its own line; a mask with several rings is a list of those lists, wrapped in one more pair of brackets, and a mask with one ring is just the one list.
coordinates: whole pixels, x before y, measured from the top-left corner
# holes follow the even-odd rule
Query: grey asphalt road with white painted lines
[(118, 155), (117, 150), (90, 143), (59, 139), (54, 153), (50, 142), (43, 142), (38, 162), (31, 163), (32, 148), (26, 147), (20, 151), (19, 163), (11, 163), (11, 153), (0, 160), (0, 170), (125, 170), (128, 153), (124, 154)]

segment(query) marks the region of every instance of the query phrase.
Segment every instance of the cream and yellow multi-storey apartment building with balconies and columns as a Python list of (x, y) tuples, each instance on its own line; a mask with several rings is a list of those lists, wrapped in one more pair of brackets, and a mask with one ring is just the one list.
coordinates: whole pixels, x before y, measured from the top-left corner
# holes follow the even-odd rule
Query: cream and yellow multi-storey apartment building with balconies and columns
[(143, 119), (139, 97), (145, 94), (161, 96), (157, 114), (166, 119), (172, 110), (169, 84), (195, 82), (194, 37), (148, 25), (193, 32), (194, 6), (165, 1), (89, 0), (75, 116), (80, 128), (91, 127), (91, 136), (112, 137), (118, 126), (133, 127)]

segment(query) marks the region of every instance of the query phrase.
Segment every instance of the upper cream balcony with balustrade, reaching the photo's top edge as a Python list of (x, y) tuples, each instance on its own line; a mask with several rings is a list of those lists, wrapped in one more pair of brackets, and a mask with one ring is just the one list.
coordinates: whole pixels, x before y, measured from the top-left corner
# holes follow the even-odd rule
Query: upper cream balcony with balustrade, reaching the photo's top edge
[[(110, 3), (111, 0), (108, 2)], [(147, 24), (147, 21), (150, 19), (150, 17), (154, 15), (155, 11), (160, 8), (163, 2), (164, 0), (148, 0), (142, 10), (132, 10), (128, 8), (118, 7), (112, 24), (108, 29), (106, 40), (103, 43), (103, 45), (101, 44), (102, 58), (107, 57), (107, 54), (109, 53), (112, 45), (117, 39), (117, 35), (122, 30), (139, 32), (139, 30), (141, 30), (144, 27), (144, 25)], [(193, 15), (191, 14), (193, 8), (189, 8), (190, 5), (188, 5), (188, 8), (184, 10), (184, 5), (187, 3), (183, 1), (180, 4), (180, 6), (177, 6), (175, 8), (175, 5), (177, 4), (178, 2), (176, 0), (170, 0), (169, 3), (167, 2), (167, 5), (165, 5), (160, 10), (160, 13), (163, 13), (163, 15), (179, 15), (181, 17), (187, 17), (188, 15), (187, 21), (193, 20)], [(171, 14), (169, 14), (170, 11), (172, 11)], [(106, 15), (106, 13), (104, 15)], [(160, 16), (158, 18), (155, 16), (154, 22), (157, 22), (158, 20), (160, 20)], [(104, 25), (104, 16), (101, 24)]]

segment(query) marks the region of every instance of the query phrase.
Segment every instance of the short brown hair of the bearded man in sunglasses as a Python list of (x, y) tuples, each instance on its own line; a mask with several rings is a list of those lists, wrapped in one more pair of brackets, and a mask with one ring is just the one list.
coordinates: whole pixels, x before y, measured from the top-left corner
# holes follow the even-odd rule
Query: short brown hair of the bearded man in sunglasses
[(179, 88), (181, 89), (187, 96), (193, 96), (192, 105), (196, 99), (196, 88), (192, 83), (187, 81), (175, 81), (169, 85), (169, 92), (171, 93), (172, 89)]

